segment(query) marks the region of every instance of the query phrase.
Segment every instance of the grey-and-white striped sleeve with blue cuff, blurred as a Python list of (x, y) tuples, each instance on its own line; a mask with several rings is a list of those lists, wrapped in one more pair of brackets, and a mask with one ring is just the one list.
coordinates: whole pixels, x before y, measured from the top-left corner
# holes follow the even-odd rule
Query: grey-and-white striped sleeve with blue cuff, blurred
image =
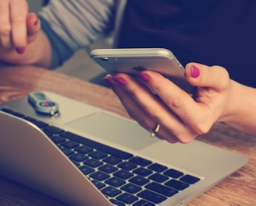
[(77, 50), (112, 30), (115, 14), (115, 0), (50, 1), (38, 15), (52, 46), (51, 68), (62, 65)]

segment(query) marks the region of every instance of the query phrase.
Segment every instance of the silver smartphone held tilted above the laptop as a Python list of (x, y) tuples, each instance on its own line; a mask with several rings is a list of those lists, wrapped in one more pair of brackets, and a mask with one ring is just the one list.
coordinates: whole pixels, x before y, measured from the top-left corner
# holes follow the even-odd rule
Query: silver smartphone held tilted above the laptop
[(163, 48), (97, 49), (91, 51), (91, 58), (106, 72), (124, 72), (136, 75), (143, 70), (159, 72), (180, 86), (187, 93), (193, 87), (185, 78), (185, 69), (172, 51)]

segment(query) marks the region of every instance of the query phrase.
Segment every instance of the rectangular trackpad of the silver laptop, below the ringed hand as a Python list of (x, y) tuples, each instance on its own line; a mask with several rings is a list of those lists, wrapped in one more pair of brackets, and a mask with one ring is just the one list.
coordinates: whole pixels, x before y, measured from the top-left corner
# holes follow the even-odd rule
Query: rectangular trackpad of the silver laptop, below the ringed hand
[(103, 112), (92, 113), (73, 120), (67, 125), (85, 134), (91, 134), (99, 140), (135, 150), (140, 150), (159, 141), (158, 138), (151, 138), (149, 131), (140, 127), (139, 124)]

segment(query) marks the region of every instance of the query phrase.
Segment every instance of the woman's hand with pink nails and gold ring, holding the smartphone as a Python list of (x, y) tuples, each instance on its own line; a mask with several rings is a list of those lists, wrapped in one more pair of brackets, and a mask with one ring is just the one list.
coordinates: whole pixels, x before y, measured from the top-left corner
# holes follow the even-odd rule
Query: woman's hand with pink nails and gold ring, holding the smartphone
[(187, 143), (229, 116), (233, 83), (225, 68), (188, 64), (187, 81), (197, 87), (193, 97), (157, 72), (140, 72), (138, 78), (146, 86), (123, 73), (107, 75), (104, 80), (142, 127), (154, 131), (160, 125), (158, 138)]

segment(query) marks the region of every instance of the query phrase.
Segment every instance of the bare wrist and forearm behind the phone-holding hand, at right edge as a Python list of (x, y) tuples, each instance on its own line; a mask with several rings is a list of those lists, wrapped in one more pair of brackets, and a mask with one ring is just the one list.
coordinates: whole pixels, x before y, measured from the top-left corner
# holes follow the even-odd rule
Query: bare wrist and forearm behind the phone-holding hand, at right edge
[(250, 134), (256, 134), (256, 89), (231, 81), (232, 92), (224, 122)]

